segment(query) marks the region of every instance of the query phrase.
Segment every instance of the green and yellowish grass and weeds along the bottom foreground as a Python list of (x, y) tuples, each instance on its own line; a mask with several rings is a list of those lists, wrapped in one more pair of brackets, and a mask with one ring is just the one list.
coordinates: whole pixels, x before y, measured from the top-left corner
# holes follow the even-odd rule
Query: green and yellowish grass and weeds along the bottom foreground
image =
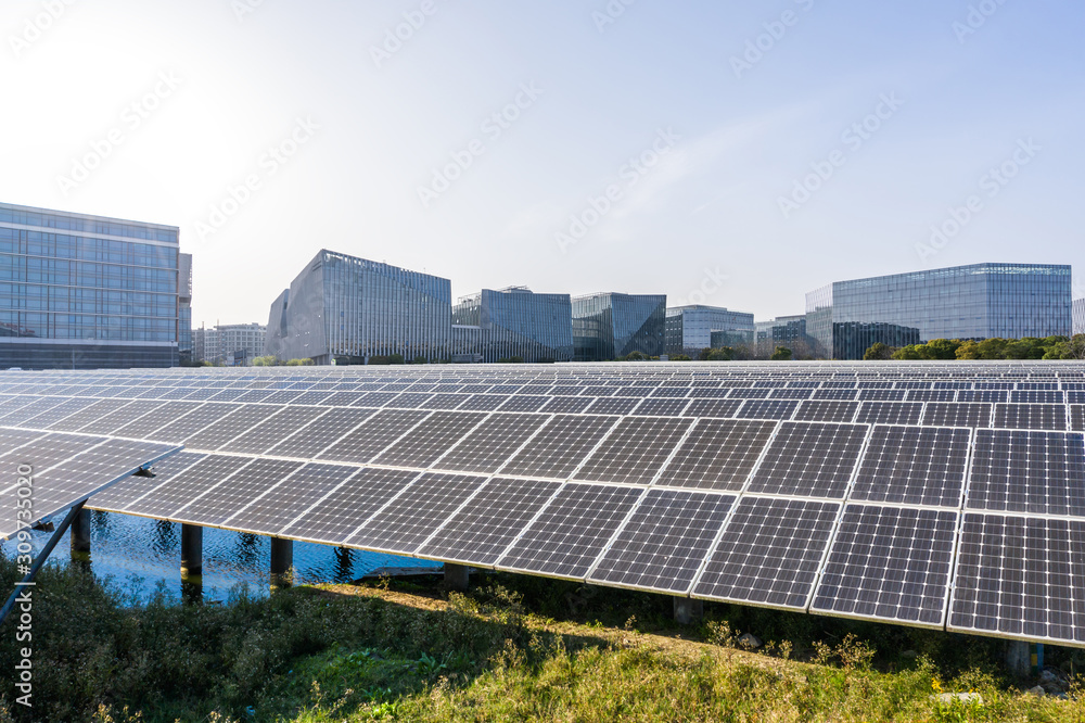
[[(0, 560), (3, 587), (14, 579)], [(0, 723), (1085, 723), (1085, 697), (1030, 696), (1014, 685), (1033, 683), (1001, 677), (997, 640), (730, 606), (706, 606), (703, 624), (680, 627), (663, 596), (513, 575), (472, 582), (465, 595), (384, 581), (186, 606), (50, 568), (34, 608), (35, 706), (14, 705), (4, 683)], [(740, 631), (768, 644), (745, 650)], [(15, 655), (9, 621), (0, 670)], [(1082, 662), (1051, 647), (1048, 658)], [(939, 705), (942, 690), (983, 702)]]

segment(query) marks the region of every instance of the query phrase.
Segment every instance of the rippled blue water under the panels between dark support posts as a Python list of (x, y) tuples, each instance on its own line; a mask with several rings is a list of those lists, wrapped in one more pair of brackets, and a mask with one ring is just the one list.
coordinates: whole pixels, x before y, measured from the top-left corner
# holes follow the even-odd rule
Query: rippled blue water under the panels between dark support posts
[[(56, 520), (60, 521), (60, 518)], [(35, 554), (52, 533), (34, 532)], [(56, 545), (50, 565), (71, 561), (69, 534)], [(15, 555), (14, 541), (0, 543), (8, 557)], [(230, 591), (247, 585), (251, 593), (268, 594), (271, 557), (269, 537), (213, 528), (204, 529), (203, 596), (224, 600)], [(181, 595), (181, 525), (115, 512), (91, 512), (91, 570), (98, 578), (112, 578), (142, 599), (159, 585), (175, 597)], [(350, 582), (383, 567), (441, 567), (439, 562), (396, 555), (365, 553), (345, 547), (294, 543), (296, 583)]]

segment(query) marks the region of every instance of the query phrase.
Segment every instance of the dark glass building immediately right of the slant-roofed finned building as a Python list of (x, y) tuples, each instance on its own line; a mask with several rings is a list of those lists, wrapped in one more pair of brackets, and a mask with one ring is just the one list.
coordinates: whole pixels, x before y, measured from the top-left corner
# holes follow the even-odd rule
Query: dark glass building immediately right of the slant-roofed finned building
[[(483, 289), (452, 307), (457, 353), (482, 362), (520, 357), (527, 363), (573, 360), (573, 312), (569, 294), (537, 294), (524, 287)], [(470, 332), (455, 327), (478, 327), (477, 346), (460, 346)]]

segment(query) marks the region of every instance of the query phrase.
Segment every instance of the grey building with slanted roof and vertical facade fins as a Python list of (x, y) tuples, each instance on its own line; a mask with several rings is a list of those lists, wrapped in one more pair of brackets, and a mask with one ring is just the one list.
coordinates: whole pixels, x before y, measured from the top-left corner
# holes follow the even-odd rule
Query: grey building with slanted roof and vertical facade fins
[(280, 360), (365, 364), (400, 354), (448, 358), (448, 279), (322, 250), (271, 304), (265, 353)]

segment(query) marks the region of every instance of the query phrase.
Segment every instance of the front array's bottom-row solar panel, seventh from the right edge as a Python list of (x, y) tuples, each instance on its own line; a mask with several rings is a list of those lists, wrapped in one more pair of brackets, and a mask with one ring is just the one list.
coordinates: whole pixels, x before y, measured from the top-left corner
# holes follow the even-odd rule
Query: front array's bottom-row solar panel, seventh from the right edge
[(413, 554), (485, 481), (484, 477), (423, 474), (345, 544)]

